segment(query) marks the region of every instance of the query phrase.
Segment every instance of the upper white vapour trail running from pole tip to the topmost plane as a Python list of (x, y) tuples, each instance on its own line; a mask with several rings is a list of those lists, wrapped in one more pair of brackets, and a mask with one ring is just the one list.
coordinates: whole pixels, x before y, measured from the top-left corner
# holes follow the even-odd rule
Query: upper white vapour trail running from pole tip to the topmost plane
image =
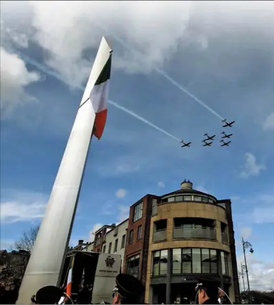
[[(95, 22), (94, 22), (95, 23)], [(107, 30), (105, 27), (103, 26), (99, 26), (98, 23), (96, 23), (96, 26), (102, 28), (103, 30), (105, 30), (105, 32), (107, 32), (109, 35), (111, 35), (112, 37), (114, 37), (114, 39), (116, 39), (124, 48), (126, 48), (129, 52), (131, 52), (131, 49), (124, 43), (124, 41), (122, 39), (120, 39), (119, 37), (117, 37), (116, 35), (114, 35), (112, 32), (109, 32), (109, 30)], [(187, 94), (189, 97), (191, 97), (191, 99), (194, 99), (194, 101), (197, 101), (198, 104), (200, 104), (202, 107), (206, 108), (207, 110), (209, 110), (213, 115), (215, 115), (216, 117), (218, 117), (219, 119), (224, 120), (224, 118), (222, 116), (220, 116), (217, 112), (215, 112), (215, 110), (213, 110), (212, 108), (210, 108), (206, 103), (204, 103), (204, 101), (202, 101), (201, 99), (198, 99), (198, 97), (196, 97), (195, 95), (193, 95), (193, 93), (189, 92), (189, 90), (187, 90), (185, 87), (183, 87), (182, 85), (180, 85), (180, 83), (178, 83), (177, 81), (175, 81), (174, 79), (172, 79), (169, 75), (167, 75), (167, 73), (163, 70), (160, 70), (158, 68), (154, 68), (154, 70), (156, 72), (158, 72), (160, 75), (162, 75), (163, 77), (165, 77), (165, 79), (167, 79), (168, 81), (170, 81), (171, 83), (173, 83), (174, 86), (176, 86), (177, 88), (179, 88), (182, 92), (185, 92), (185, 94)]]

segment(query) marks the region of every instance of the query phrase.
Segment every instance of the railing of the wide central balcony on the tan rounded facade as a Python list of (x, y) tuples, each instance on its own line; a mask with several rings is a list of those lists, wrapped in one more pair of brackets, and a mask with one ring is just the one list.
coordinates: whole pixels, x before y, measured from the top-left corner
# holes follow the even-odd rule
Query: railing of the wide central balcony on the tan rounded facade
[(216, 230), (214, 228), (173, 228), (173, 239), (176, 238), (201, 238), (201, 239), (217, 239)]

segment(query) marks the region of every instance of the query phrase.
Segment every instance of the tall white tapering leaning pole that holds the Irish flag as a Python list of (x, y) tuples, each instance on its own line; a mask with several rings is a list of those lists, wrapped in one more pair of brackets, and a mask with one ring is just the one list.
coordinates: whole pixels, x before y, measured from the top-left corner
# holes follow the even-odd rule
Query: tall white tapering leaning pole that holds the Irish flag
[(39, 288), (60, 284), (96, 118), (89, 97), (110, 52), (103, 37), (25, 270), (17, 304), (30, 304), (30, 297)]

